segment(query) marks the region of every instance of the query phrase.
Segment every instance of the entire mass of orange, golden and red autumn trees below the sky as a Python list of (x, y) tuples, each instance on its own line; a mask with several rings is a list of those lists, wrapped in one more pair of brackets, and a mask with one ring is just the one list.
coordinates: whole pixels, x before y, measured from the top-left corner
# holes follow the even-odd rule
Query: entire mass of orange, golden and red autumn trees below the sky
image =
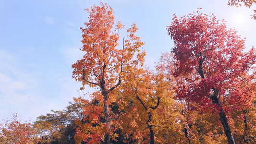
[(73, 78), (82, 91), (96, 91), (40, 115), (33, 126), (14, 115), (0, 125), (0, 143), (255, 144), (256, 51), (200, 9), (173, 15), (167, 31), (174, 46), (156, 70), (144, 65), (136, 24), (120, 38), (124, 25), (108, 4), (85, 9), (84, 56), (72, 65)]

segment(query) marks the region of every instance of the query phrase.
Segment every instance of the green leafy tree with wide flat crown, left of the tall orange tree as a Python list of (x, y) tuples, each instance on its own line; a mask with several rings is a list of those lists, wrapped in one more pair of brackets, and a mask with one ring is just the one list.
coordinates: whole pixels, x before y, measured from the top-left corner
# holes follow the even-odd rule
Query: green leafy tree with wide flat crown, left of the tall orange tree
[[(74, 98), (76, 101), (81, 97)], [(41, 144), (75, 144), (75, 120), (83, 120), (83, 108), (79, 102), (70, 102), (64, 110), (54, 111), (37, 117), (34, 127)]]

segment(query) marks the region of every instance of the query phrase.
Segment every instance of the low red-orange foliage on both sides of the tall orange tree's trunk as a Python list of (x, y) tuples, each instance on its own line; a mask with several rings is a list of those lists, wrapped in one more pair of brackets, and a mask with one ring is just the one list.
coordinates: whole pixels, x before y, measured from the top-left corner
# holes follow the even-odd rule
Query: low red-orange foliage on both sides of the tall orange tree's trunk
[[(118, 120), (122, 117), (122, 110), (119, 106), (119, 95), (115, 94), (116, 101), (110, 102), (110, 116), (111, 116), (111, 144), (126, 144), (131, 137), (124, 134), (122, 124)], [(92, 100), (81, 99), (79, 100), (85, 104), (83, 120), (76, 120), (76, 135), (74, 137), (76, 144), (89, 143), (99, 144), (102, 143), (102, 135), (106, 132), (104, 128), (104, 110), (102, 108), (103, 101), (94, 98)]]

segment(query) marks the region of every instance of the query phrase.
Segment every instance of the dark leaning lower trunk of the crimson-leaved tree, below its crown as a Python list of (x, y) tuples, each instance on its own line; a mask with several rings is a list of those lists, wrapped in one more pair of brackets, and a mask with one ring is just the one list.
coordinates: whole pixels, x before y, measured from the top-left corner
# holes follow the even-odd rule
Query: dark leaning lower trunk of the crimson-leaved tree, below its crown
[[(221, 107), (220, 107), (220, 108), (221, 108)], [(226, 134), (226, 136), (227, 136), (228, 143), (229, 143), (229, 144), (235, 144), (235, 141), (234, 141), (232, 132), (231, 132), (231, 130), (230, 130), (229, 122), (228, 122), (227, 117), (226, 117), (226, 114), (225, 114), (225, 112), (222, 110), (222, 108), (220, 109), (219, 117), (220, 117), (219, 120), (221, 121), (222, 126), (224, 127), (224, 132), (225, 132), (225, 134)]]

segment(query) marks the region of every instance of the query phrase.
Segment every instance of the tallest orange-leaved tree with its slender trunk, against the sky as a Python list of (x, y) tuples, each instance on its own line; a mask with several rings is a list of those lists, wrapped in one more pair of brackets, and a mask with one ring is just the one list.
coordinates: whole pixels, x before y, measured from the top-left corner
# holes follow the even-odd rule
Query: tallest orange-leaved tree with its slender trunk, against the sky
[(106, 132), (102, 138), (105, 144), (110, 144), (109, 103), (114, 101), (113, 91), (122, 83), (123, 73), (144, 63), (146, 53), (141, 49), (144, 43), (140, 41), (140, 37), (134, 35), (138, 30), (135, 24), (127, 30), (128, 38), (123, 39), (123, 46), (117, 48), (120, 41), (119, 30), (123, 25), (117, 22), (114, 27), (114, 15), (109, 5), (101, 3), (100, 6), (94, 5), (91, 10), (85, 10), (89, 13), (86, 27), (81, 27), (81, 50), (85, 51), (85, 55), (72, 65), (73, 78), (82, 82), (81, 90), (85, 84), (100, 89), (100, 94), (91, 96), (92, 99), (96, 96), (103, 102)]

